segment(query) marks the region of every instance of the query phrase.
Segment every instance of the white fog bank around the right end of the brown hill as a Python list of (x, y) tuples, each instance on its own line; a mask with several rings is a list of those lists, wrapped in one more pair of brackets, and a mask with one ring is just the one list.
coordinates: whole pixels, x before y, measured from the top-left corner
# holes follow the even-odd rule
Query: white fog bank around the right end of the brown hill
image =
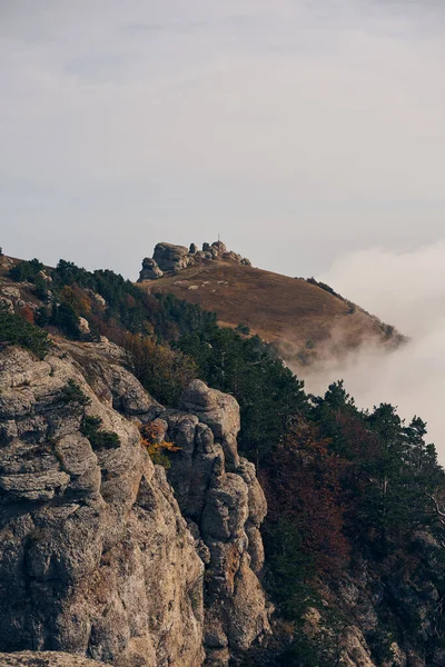
[(392, 354), (369, 346), (305, 377), (323, 394), (343, 378), (359, 407), (383, 401), (427, 421), (445, 461), (445, 241), (411, 252), (374, 248), (338, 257), (320, 280), (409, 337)]

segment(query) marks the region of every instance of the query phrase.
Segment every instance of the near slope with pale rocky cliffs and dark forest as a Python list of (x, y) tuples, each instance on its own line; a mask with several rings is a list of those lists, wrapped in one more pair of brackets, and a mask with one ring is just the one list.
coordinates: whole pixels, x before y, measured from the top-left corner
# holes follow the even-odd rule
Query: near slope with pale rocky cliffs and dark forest
[[(202, 252), (144, 270), (257, 275)], [(1, 665), (445, 664), (425, 422), (306, 394), (198, 305), (0, 256), (0, 444)]]

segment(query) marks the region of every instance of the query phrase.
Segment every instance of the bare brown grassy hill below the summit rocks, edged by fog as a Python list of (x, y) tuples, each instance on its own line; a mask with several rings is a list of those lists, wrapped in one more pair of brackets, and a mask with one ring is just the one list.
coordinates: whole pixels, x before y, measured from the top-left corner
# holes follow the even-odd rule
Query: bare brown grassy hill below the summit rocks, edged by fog
[[(167, 245), (159, 243), (155, 257), (159, 246)], [(283, 358), (299, 365), (342, 356), (364, 342), (389, 347), (403, 340), (392, 327), (328, 291), (328, 286), (257, 269), (234, 256), (222, 251), (211, 259), (199, 257), (191, 266), (161, 271), (155, 279), (145, 279), (142, 270), (138, 285), (215, 311), (221, 326), (245, 325), (274, 344)]]

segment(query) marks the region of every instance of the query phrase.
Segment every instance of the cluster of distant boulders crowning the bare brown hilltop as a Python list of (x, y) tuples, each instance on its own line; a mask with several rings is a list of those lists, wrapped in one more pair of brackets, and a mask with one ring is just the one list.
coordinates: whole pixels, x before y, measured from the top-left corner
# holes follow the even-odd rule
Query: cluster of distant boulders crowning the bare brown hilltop
[(142, 260), (142, 270), (139, 273), (138, 281), (156, 280), (165, 273), (177, 273), (187, 267), (215, 259), (251, 266), (250, 260), (246, 257), (228, 251), (222, 241), (215, 241), (211, 245), (202, 243), (202, 250), (198, 250), (195, 243), (190, 243), (189, 249), (187, 249), (185, 246), (174, 246), (172, 243), (162, 242), (155, 247), (152, 258), (146, 257)]

